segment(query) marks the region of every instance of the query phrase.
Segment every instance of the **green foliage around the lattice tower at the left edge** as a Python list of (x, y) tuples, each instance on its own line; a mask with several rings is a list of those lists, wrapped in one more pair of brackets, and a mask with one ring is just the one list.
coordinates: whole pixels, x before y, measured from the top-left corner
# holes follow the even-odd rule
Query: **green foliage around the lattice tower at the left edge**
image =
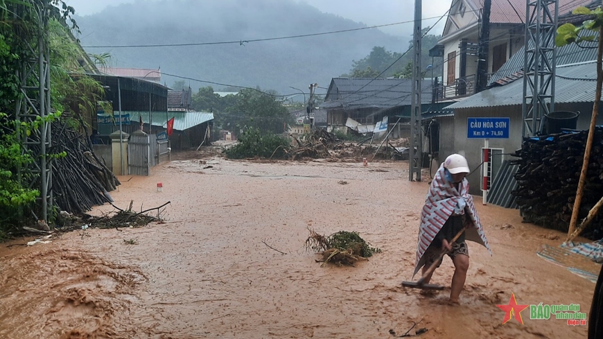
[[(78, 58), (84, 55), (73, 42), (69, 30), (78, 30), (71, 19), (74, 10), (60, 0), (4, 0), (0, 1), (0, 238), (9, 225), (19, 220), (17, 211), (27, 209), (39, 191), (25, 185), (35, 181), (37, 174), (28, 171), (34, 159), (24, 153), (22, 143), (35, 133), (42, 123), (51, 123), (70, 111), (71, 116), (83, 114), (95, 105), (103, 88), (85, 75)], [(43, 13), (43, 14), (42, 14)], [(42, 38), (50, 51), (51, 105), (56, 113), (31, 123), (16, 120), (17, 103), (21, 101), (21, 86), (17, 70), (24, 60), (37, 58), (37, 42), (40, 35), (40, 17), (49, 15), (47, 30)], [(67, 120), (78, 125), (79, 119)], [(54, 140), (56, 141), (56, 140)], [(50, 150), (52, 151), (52, 150)], [(60, 154), (46, 157), (58, 159)]]

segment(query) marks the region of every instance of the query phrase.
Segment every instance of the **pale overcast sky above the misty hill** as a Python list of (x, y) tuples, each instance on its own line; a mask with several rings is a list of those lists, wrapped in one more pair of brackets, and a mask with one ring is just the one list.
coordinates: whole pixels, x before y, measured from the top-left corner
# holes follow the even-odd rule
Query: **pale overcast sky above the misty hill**
[[(77, 15), (91, 15), (100, 12), (107, 6), (116, 6), (120, 3), (147, 2), (155, 0), (65, 0), (69, 6), (76, 9)], [(219, 1), (219, 0), (199, 0)], [(253, 0), (248, 0), (253, 1)], [(296, 0), (306, 2), (322, 12), (339, 15), (346, 19), (358, 21), (367, 26), (393, 24), (414, 19), (414, 0)], [(423, 18), (440, 17), (448, 8), (452, 0), (427, 0), (423, 1)], [(423, 28), (432, 26), (437, 19), (426, 19)], [(433, 28), (430, 33), (442, 34), (444, 21)], [(412, 33), (411, 24), (400, 24), (380, 28), (382, 31), (392, 35), (408, 37)]]

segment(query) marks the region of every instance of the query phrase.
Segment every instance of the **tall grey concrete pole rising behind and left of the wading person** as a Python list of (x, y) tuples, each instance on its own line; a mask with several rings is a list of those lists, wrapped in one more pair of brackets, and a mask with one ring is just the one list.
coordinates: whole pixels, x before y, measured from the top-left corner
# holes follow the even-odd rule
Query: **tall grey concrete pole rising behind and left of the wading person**
[(412, 33), (412, 99), (410, 104), (410, 151), (408, 167), (410, 181), (421, 181), (421, 0), (414, 0), (414, 29)]

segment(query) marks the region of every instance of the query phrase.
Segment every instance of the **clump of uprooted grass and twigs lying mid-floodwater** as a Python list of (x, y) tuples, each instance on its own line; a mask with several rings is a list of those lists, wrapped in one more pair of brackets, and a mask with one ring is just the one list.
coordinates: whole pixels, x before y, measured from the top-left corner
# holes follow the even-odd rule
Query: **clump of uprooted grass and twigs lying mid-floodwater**
[(374, 253), (381, 253), (378, 248), (371, 247), (364, 239), (360, 238), (358, 232), (340, 231), (330, 236), (317, 234), (308, 228), (310, 236), (306, 239), (306, 250), (314, 250), (322, 256), (316, 262), (322, 262), (321, 267), (327, 263), (335, 263), (338, 266), (353, 266), (356, 261), (367, 260)]

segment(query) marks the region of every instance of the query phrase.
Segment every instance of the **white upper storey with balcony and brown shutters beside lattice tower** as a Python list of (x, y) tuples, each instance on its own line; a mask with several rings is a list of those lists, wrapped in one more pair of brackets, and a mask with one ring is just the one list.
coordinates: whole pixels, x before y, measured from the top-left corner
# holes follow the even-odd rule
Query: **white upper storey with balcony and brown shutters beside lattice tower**
[[(559, 17), (592, 0), (559, 0)], [(477, 85), (480, 44), (486, 46), (485, 82), (525, 44), (525, 0), (491, 0), (489, 18), (484, 17), (484, 0), (452, 0), (444, 32), (430, 51), (442, 58), (442, 78), (434, 88), (435, 101), (457, 101), (479, 92)], [(489, 20), (487, 20), (489, 19)], [(480, 39), (489, 21), (488, 39)], [(487, 42), (487, 43), (486, 43)], [(485, 85), (484, 82), (484, 85)]]

